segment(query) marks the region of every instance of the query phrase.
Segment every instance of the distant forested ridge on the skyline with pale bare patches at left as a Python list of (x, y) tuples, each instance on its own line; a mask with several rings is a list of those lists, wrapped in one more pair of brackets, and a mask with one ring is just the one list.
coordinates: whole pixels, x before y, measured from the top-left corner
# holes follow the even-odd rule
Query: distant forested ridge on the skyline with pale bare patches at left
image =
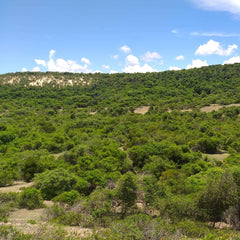
[[(238, 102), (239, 81), (240, 64), (145, 74), (9, 73), (0, 75), (0, 84), (5, 86), (0, 89), (0, 97), (20, 96), (20, 87), (36, 91), (37, 86), (54, 92), (53, 95), (62, 92), (64, 96), (76, 92), (73, 103), (78, 102), (84, 106), (118, 103), (121, 107), (148, 105), (164, 108), (167, 104), (175, 109)], [(8, 91), (11, 92), (10, 96), (7, 96)], [(31, 91), (24, 94), (31, 94)], [(38, 94), (42, 96), (47, 93), (38, 90), (32, 97), (39, 98)]]

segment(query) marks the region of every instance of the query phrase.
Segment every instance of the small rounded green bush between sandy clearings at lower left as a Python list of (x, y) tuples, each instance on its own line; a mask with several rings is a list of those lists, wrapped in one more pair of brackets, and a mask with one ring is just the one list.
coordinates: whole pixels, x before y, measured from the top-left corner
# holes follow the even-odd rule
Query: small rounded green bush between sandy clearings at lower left
[(25, 189), (20, 194), (19, 206), (27, 209), (42, 208), (43, 199), (40, 191), (35, 188)]

